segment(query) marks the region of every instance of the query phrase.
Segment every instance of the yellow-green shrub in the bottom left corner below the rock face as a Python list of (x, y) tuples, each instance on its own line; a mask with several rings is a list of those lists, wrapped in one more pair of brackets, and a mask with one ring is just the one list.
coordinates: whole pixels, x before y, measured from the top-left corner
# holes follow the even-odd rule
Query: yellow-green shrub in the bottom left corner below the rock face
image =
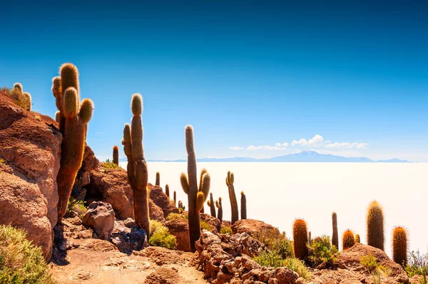
[(26, 239), (26, 231), (0, 225), (0, 284), (54, 284), (41, 248)]

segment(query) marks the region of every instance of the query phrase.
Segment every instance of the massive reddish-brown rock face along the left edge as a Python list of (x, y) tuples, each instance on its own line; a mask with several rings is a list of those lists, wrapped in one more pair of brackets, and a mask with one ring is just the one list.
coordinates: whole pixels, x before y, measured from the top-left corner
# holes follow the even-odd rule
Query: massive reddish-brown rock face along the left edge
[(26, 229), (46, 259), (57, 219), (61, 133), (55, 125), (0, 93), (0, 223)]

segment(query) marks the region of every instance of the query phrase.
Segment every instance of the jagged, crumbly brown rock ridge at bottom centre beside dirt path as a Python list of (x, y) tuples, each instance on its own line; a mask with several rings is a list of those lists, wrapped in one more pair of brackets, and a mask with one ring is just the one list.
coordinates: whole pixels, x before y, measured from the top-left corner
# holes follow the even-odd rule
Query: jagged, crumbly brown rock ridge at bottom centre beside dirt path
[[(221, 238), (213, 233), (204, 232), (196, 242), (199, 255), (200, 269), (203, 270), (204, 277), (213, 284), (224, 283), (245, 283), (245, 284), (294, 284), (297, 283), (299, 275), (289, 268), (267, 268), (255, 263), (250, 256), (241, 253), (238, 246), (245, 247), (241, 241), (233, 241), (233, 237), (228, 239), (227, 250)], [(246, 233), (239, 236), (240, 240), (250, 238)], [(258, 241), (251, 242), (253, 245)], [(247, 243), (248, 245), (248, 243)], [(230, 249), (230, 246), (237, 246)], [(247, 251), (258, 251), (262, 245), (253, 248), (245, 248)]]

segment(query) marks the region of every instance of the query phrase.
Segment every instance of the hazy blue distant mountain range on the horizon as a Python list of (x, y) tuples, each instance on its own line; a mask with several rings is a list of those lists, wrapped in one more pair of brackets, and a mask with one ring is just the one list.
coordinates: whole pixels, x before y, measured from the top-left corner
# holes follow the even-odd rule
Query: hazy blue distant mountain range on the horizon
[[(126, 162), (126, 159), (124, 159)], [(187, 159), (178, 159), (175, 161), (148, 160), (148, 162), (187, 162)], [(365, 157), (341, 157), (332, 154), (320, 154), (315, 151), (302, 151), (295, 154), (287, 154), (279, 157), (268, 159), (255, 159), (250, 157), (236, 158), (203, 158), (198, 159), (198, 162), (377, 162), (377, 163), (408, 163), (403, 159), (384, 159), (372, 160)]]

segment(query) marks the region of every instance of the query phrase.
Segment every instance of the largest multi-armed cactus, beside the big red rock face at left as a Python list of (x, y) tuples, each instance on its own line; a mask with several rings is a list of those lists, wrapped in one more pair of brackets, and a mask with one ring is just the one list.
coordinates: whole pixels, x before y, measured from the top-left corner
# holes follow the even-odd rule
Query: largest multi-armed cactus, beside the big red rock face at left
[[(61, 167), (56, 176), (58, 184), (58, 222), (66, 214), (68, 199), (70, 199), (71, 189), (78, 169), (83, 160), (83, 150), (85, 149), (86, 132), (88, 122), (91, 120), (93, 112), (93, 102), (84, 99), (79, 107), (80, 98), (78, 95), (78, 70), (70, 63), (61, 65), (61, 78), (54, 79), (54, 83), (73, 82), (73, 84), (63, 84), (59, 93), (56, 93), (56, 105), (63, 120), (60, 130), (63, 135), (61, 144)], [(53, 86), (53, 90), (55, 85)], [(55, 92), (54, 92), (55, 94)]]

